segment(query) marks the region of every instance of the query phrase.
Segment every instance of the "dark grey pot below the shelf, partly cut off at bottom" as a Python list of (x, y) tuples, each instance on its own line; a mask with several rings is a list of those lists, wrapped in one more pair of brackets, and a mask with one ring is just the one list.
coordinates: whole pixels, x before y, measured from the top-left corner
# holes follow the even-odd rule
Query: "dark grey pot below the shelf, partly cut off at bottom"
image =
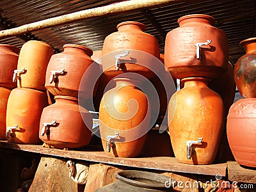
[[(117, 182), (113, 182), (97, 189), (97, 192), (123, 192), (123, 191), (170, 191), (177, 185), (177, 181), (160, 175), (159, 173), (125, 170), (115, 173)], [(167, 185), (166, 185), (167, 184)], [(166, 188), (168, 186), (169, 188)]]

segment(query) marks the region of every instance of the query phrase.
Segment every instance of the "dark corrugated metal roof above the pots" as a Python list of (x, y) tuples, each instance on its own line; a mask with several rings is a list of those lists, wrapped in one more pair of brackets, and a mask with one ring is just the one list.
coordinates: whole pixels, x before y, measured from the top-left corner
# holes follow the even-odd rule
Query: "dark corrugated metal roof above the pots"
[[(0, 29), (8, 29), (38, 20), (49, 19), (73, 13), (88, 8), (104, 6), (118, 1), (79, 1), (79, 0), (1, 0), (0, 1)], [(190, 3), (191, 2), (191, 3)], [(195, 3), (197, 2), (197, 3)], [(204, 13), (217, 20), (217, 26), (228, 35), (230, 61), (236, 63), (244, 54), (239, 42), (255, 36), (255, 0), (241, 1), (188, 1), (169, 6), (161, 6), (150, 10), (111, 15), (88, 19), (62, 26), (42, 29), (21, 35), (19, 38), (3, 38), (0, 44), (12, 44), (21, 47), (26, 40), (42, 40), (52, 45), (56, 52), (62, 51), (64, 44), (79, 44), (89, 47), (93, 51), (102, 49), (104, 38), (116, 31), (116, 25), (125, 20), (143, 22), (147, 26), (147, 33), (159, 40), (161, 52), (164, 53), (164, 39), (166, 33), (177, 28), (177, 19), (184, 15)], [(221, 20), (226, 20), (221, 24)]]

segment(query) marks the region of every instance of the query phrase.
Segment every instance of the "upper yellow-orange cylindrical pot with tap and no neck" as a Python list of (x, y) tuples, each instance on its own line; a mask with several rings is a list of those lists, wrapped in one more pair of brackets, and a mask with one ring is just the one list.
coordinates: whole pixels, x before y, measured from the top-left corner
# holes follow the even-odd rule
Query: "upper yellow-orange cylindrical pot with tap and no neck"
[(45, 42), (30, 40), (23, 44), (13, 81), (17, 81), (18, 87), (21, 88), (46, 90), (45, 72), (52, 54), (52, 47)]

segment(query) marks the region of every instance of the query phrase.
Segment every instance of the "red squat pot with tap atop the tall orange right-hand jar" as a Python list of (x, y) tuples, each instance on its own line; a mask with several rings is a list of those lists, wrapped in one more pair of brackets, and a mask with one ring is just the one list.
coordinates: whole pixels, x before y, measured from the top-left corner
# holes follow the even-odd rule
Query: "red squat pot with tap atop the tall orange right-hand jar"
[(172, 76), (177, 79), (215, 78), (225, 72), (227, 35), (212, 26), (214, 18), (202, 14), (186, 15), (180, 17), (178, 23), (180, 27), (167, 34), (164, 48), (165, 65)]

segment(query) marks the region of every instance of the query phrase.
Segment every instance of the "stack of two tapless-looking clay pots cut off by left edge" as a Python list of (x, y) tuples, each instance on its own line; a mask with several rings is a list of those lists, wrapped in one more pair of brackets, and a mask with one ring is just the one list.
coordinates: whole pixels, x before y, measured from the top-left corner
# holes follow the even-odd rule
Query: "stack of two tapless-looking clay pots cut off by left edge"
[(6, 139), (6, 108), (11, 90), (17, 87), (12, 75), (17, 68), (19, 52), (13, 45), (0, 44), (0, 140)]

